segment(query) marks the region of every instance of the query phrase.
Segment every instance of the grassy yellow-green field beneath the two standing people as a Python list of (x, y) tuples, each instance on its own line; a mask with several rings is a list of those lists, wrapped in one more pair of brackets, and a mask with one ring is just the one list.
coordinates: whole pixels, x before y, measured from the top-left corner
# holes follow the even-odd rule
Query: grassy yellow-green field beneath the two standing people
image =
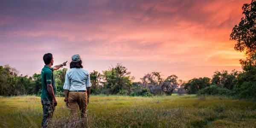
[[(256, 128), (256, 103), (207, 96), (91, 96), (91, 128)], [(53, 122), (65, 125), (69, 111), (58, 98)], [(40, 97), (0, 98), (0, 128), (40, 128)]]

